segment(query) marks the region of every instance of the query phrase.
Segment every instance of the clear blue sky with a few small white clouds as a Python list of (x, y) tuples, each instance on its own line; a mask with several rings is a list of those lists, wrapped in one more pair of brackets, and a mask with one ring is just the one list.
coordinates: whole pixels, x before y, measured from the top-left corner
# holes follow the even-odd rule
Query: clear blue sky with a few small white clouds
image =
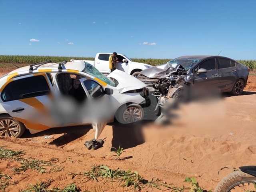
[(256, 59), (256, 0), (0, 0), (0, 54)]

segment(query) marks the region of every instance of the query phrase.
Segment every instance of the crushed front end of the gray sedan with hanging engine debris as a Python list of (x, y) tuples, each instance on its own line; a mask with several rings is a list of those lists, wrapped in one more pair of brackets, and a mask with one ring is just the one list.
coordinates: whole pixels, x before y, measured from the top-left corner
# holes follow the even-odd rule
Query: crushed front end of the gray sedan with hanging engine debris
[[(187, 71), (179, 64), (163, 64), (143, 70), (137, 77), (147, 85), (147, 98), (144, 108), (149, 112), (158, 112), (157, 123), (168, 119), (168, 110), (176, 106), (177, 100), (187, 87)], [(161, 112), (161, 113), (160, 113)]]

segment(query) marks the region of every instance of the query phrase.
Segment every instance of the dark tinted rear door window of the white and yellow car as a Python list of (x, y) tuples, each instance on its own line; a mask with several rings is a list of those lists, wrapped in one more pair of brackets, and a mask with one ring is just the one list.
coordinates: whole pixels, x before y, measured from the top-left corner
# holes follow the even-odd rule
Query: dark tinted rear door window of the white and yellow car
[(44, 76), (32, 76), (10, 82), (2, 91), (4, 102), (50, 94), (50, 88)]

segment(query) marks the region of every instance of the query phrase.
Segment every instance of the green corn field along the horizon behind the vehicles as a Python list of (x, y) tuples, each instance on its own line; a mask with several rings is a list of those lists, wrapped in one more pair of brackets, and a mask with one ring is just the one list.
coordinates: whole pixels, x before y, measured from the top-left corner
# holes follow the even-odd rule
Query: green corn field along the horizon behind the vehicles
[[(94, 60), (94, 57), (64, 57), (64, 56), (23, 56), (23, 55), (0, 55), (0, 64), (35, 64), (47, 60), (52, 62), (62, 62), (63, 60)], [(134, 62), (146, 63), (152, 66), (164, 64), (171, 59), (154, 59), (154, 58), (132, 58)], [(241, 64), (248, 66), (251, 70), (256, 70), (256, 60), (237, 60)], [(7, 65), (6, 65), (7, 67)]]

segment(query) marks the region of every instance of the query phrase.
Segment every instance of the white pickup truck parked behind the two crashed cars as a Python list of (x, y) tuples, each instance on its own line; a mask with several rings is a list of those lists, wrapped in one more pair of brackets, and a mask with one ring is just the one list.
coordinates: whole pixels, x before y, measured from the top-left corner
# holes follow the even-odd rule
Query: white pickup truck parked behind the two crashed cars
[[(111, 54), (112, 53), (97, 53), (94, 61), (84, 61), (92, 64), (103, 74), (110, 74), (108, 59)], [(120, 62), (116, 64), (116, 68), (132, 76), (137, 76), (140, 74), (140, 71), (152, 67), (148, 64), (134, 62), (123, 54), (117, 54), (117, 58)]]

